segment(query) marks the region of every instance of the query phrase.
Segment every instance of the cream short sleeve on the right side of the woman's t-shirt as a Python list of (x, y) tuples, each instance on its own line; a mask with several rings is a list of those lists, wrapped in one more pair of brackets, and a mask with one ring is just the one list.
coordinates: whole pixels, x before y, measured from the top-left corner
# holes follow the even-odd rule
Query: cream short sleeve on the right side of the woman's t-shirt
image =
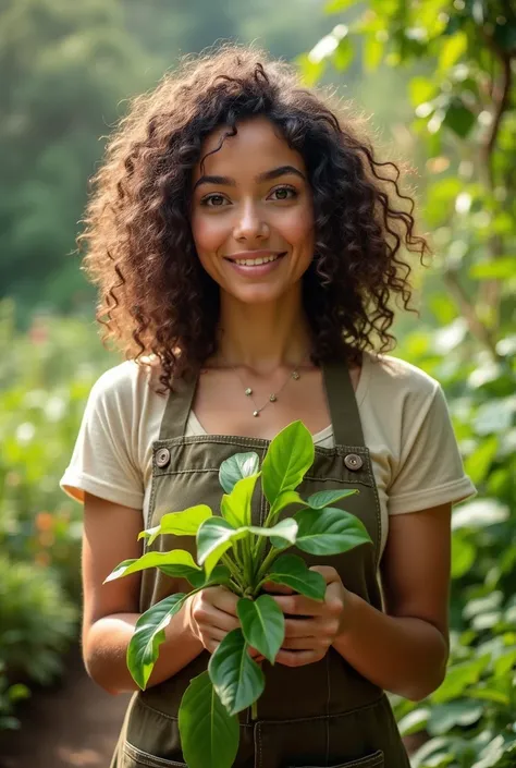
[(426, 407), (407, 411), (401, 444), (398, 465), (388, 488), (389, 514), (417, 512), (475, 496), (439, 383)]

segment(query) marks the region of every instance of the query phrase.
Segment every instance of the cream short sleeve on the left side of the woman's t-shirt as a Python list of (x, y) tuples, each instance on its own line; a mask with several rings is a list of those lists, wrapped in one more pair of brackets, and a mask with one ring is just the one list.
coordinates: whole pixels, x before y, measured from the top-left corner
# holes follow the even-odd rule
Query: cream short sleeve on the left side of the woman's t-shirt
[[(120, 370), (120, 368), (118, 369)], [(106, 371), (93, 386), (60, 488), (84, 502), (84, 491), (142, 509), (143, 475), (132, 455), (132, 416), (120, 377)]]

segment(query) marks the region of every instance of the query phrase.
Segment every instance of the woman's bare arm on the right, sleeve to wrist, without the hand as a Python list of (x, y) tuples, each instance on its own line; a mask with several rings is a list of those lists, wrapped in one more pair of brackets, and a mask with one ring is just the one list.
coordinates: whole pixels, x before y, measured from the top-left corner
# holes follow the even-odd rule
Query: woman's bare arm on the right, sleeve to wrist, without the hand
[(334, 647), (386, 691), (419, 700), (441, 685), (449, 655), (451, 504), (390, 517), (382, 559), (385, 613), (348, 595)]

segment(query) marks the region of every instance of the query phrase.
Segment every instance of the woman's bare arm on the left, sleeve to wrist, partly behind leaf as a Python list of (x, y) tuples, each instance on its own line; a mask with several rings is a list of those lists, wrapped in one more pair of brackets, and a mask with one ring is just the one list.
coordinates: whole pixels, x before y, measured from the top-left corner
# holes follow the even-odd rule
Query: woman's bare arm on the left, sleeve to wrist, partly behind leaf
[[(83, 535), (83, 657), (88, 674), (109, 693), (136, 691), (126, 653), (139, 618), (140, 574), (102, 584), (122, 560), (138, 558), (142, 510), (85, 492)], [(202, 650), (191, 630), (189, 605), (171, 620), (148, 686), (172, 676)]]

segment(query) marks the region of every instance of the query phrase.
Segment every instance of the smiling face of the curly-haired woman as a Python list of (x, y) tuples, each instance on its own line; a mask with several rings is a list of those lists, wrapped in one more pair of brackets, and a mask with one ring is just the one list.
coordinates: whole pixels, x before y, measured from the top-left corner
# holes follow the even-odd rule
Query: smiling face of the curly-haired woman
[[(201, 157), (216, 149), (214, 131)], [(197, 254), (223, 292), (246, 304), (280, 298), (314, 257), (311, 191), (303, 157), (266, 118), (237, 124), (194, 171), (192, 230)]]

